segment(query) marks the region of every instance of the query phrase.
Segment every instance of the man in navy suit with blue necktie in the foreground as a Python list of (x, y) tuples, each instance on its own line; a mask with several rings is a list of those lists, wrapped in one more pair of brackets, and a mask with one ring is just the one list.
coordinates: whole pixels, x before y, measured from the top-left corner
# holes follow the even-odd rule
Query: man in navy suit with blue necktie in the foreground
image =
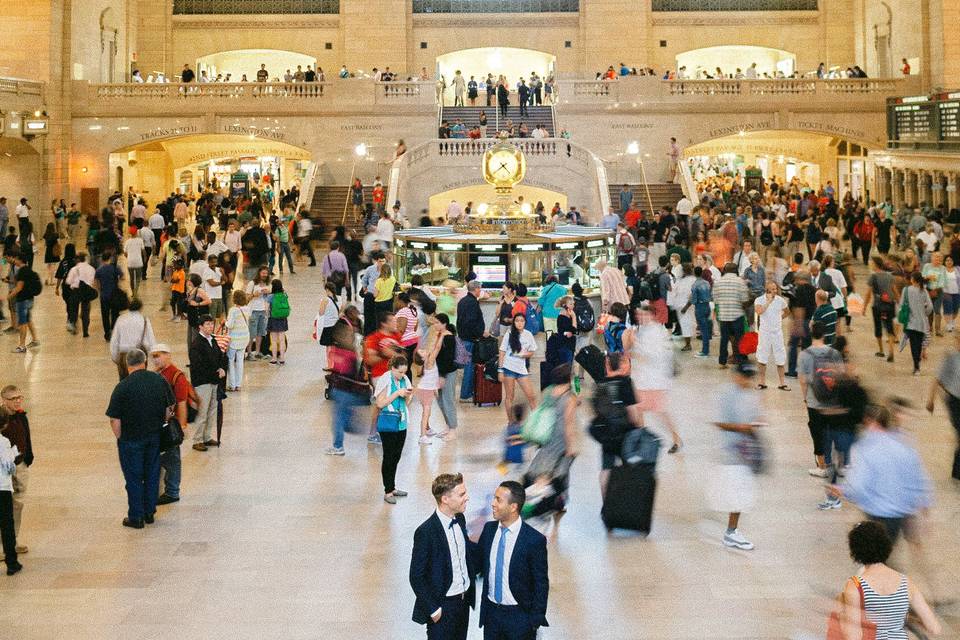
[(534, 640), (547, 624), (547, 539), (520, 519), (526, 493), (509, 480), (493, 496), (494, 522), (480, 534), (484, 640)]

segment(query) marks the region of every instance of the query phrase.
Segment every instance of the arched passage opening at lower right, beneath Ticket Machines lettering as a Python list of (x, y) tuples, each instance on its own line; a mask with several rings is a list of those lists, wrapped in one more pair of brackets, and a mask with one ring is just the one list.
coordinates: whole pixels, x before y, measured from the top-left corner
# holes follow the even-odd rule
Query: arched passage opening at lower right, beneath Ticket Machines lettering
[(750, 131), (686, 147), (690, 176), (698, 191), (704, 185), (745, 187), (748, 175), (763, 177), (765, 184), (793, 184), (798, 189), (819, 190), (829, 182), (837, 199), (849, 192), (854, 198), (872, 191), (870, 150), (856, 142), (806, 131)]

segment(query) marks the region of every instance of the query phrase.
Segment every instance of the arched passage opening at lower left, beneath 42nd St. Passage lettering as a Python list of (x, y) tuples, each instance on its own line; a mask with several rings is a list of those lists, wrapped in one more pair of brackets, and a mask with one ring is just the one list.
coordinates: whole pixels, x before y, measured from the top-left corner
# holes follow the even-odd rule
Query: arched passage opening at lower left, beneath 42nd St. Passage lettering
[[(274, 191), (302, 188), (311, 154), (294, 145), (228, 134), (200, 134), (153, 140), (110, 154), (110, 192), (133, 187), (149, 204), (172, 192), (197, 193), (205, 188), (234, 188), (238, 176), (245, 188)], [(118, 184), (123, 176), (124, 185)], [(117, 176), (113, 178), (113, 176)], [(121, 188), (122, 187), (122, 188)]]

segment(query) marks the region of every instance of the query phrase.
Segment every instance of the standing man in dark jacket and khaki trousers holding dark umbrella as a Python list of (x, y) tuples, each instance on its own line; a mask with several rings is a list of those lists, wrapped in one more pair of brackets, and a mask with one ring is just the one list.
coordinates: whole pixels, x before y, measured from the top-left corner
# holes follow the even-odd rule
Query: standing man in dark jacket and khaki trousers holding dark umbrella
[(213, 316), (204, 314), (198, 319), (197, 336), (190, 343), (190, 383), (197, 393), (197, 419), (194, 421), (193, 448), (206, 451), (219, 446), (213, 439), (217, 426), (217, 387), (227, 376), (226, 355), (213, 339)]

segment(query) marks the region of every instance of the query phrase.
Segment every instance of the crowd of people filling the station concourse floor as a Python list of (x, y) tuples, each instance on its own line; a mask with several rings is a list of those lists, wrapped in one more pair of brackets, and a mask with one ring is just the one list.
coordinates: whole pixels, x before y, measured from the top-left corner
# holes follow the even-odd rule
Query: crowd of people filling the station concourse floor
[[(359, 214), (366, 210), (362, 184), (355, 192)], [(715, 338), (718, 364), (731, 375), (716, 395), (714, 424), (722, 448), (708, 492), (713, 508), (727, 514), (722, 543), (754, 548), (741, 519), (753, 506), (755, 476), (766, 462), (760, 396), (768, 390), (765, 369), (773, 365), (774, 393), (783, 394), (783, 403), (806, 407), (815, 463), (809, 473), (826, 481), (818, 508), (841, 508), (848, 500), (879, 523), (855, 528), (851, 553), (868, 568), (861, 588), (889, 591), (887, 582), (894, 578), (883, 566), (889, 553), (884, 549), (901, 535), (916, 541), (932, 489), (919, 454), (900, 432), (907, 401), (864, 388), (857, 371), (868, 358), (851, 352), (848, 333), (854, 319), (869, 312), (878, 362), (881, 357), (893, 362), (896, 345), (909, 343), (913, 372), (925, 368), (929, 345), (954, 330), (960, 310), (960, 271), (953, 262), (960, 233), (951, 238), (946, 230), (958, 212), (945, 215), (923, 204), (894, 212), (889, 203), (837, 202), (834, 196), (826, 188), (795, 192), (774, 180), (763, 193), (704, 186), (697, 203), (644, 212), (624, 188), (619, 207), (604, 218), (614, 229), (616, 258), (589, 265), (598, 274), (599, 309), (587, 297), (592, 281), (582, 268), (583, 275), (570, 284), (543, 274), (536, 299), (522, 282), (507, 282), (491, 295), (472, 274), (439, 289), (419, 276), (399, 283), (390, 259), (399, 203), (391, 215), (382, 197), (372, 207), (378, 217), (374, 233), (361, 242), (343, 228), (316, 234), (295, 200), (268, 203), (258, 192), (231, 200), (206, 190), (192, 203), (173, 195), (157, 203), (151, 216), (144, 200), (125, 202), (115, 194), (100, 216), (88, 221), (88, 232), (77, 235), (80, 242), (65, 244), (48, 282), (52, 278), (55, 294), (64, 300), (71, 333), (89, 335), (90, 307), (100, 302), (103, 335), (119, 378), (107, 415), (126, 481), (126, 527), (149, 525), (158, 506), (180, 499), (180, 446), (171, 423), (181, 427), (179, 438), (191, 443), (196, 455), (219, 446), (224, 403), (242, 392), (245, 364), (284, 364), (294, 305), (316, 304), (317, 358), (333, 405), (325, 453), (347, 456), (348, 432), (381, 447), (382, 497), (389, 505), (408, 495), (397, 480), (408, 429), (416, 429), (418, 447), (441, 446), (460, 428), (458, 400), (502, 404), (503, 469), (512, 479), (494, 498), (493, 517), (500, 525), (488, 525), (474, 546), (466, 529), (450, 528), (463, 524), (462, 478), (445, 475), (434, 482), (437, 518), (448, 526), (438, 537), (431, 517), (427, 530), (418, 531), (413, 564), (419, 568), (411, 572), (418, 598), (414, 619), (436, 629), (436, 637), (463, 637), (464, 605), (472, 600), (467, 592), (479, 573), (487, 578), (482, 623), (519, 628), (517, 637), (524, 637), (546, 624), (546, 572), (540, 563), (546, 562), (547, 537), (574, 507), (570, 473), (585, 426), (578, 406), (587, 401), (592, 409), (588, 431), (602, 449), (604, 519), (618, 528), (613, 503), (624, 491), (625, 469), (645, 465), (643, 477), (652, 478), (661, 439), (668, 439), (669, 454), (683, 449), (684, 425), (669, 400), (677, 363), (685, 352), (711, 357)], [(10, 228), (12, 239), (4, 244), (10, 261), (4, 274), (11, 315), (6, 331), (19, 333), (17, 352), (39, 347), (31, 314), (43, 289), (30, 266), (32, 228), (29, 209), (24, 211), (27, 219)], [(74, 238), (67, 216), (61, 232), (53, 223), (57, 242)], [(313, 252), (318, 239), (326, 245), (319, 260)], [(871, 268), (863, 284), (853, 264), (858, 251)], [(320, 266), (319, 301), (291, 300), (284, 279), (276, 277), (284, 262), (292, 276), (306, 260)], [(189, 374), (173, 361), (174, 350), (156, 341), (158, 320), (144, 311), (138, 294), (150, 273), (170, 287), (160, 307), (169, 309), (169, 321), (186, 320)], [(483, 301), (492, 304), (492, 318), (484, 314)], [(960, 334), (957, 342), (931, 377), (929, 395), (913, 401), (933, 410), (943, 395), (960, 430)], [(788, 379), (799, 383), (799, 393)], [(8, 573), (16, 573), (27, 549), (16, 542), (18, 526), (7, 521), (22, 510), (32, 447), (23, 394), (7, 387), (3, 400), (0, 524)], [(434, 403), (438, 420), (431, 420)], [(953, 477), (960, 480), (960, 448)], [(649, 533), (649, 517), (637, 525), (641, 533)], [(870, 542), (857, 538), (855, 544), (854, 533)], [(428, 556), (437, 553), (437, 541), (451, 543), (451, 537), (467, 555), (454, 574), (463, 581), (444, 583), (449, 574), (443, 573), (423, 583), (436, 572), (423, 563), (435, 562)], [(421, 544), (428, 549), (419, 549)], [(532, 546), (521, 550), (521, 545)], [(523, 587), (504, 576), (511, 548), (530, 563), (517, 569), (530, 572)], [(919, 591), (905, 584), (911, 605), (928, 630), (936, 631), (936, 618), (929, 609), (924, 614)], [(446, 591), (438, 592), (441, 587)], [(866, 615), (871, 607), (885, 606), (882, 597), (871, 596)], [(444, 621), (447, 607), (456, 612), (453, 620)], [(843, 616), (853, 619), (848, 609)], [(902, 628), (903, 620), (887, 623)], [(494, 637), (513, 637), (512, 631), (498, 633)]]

